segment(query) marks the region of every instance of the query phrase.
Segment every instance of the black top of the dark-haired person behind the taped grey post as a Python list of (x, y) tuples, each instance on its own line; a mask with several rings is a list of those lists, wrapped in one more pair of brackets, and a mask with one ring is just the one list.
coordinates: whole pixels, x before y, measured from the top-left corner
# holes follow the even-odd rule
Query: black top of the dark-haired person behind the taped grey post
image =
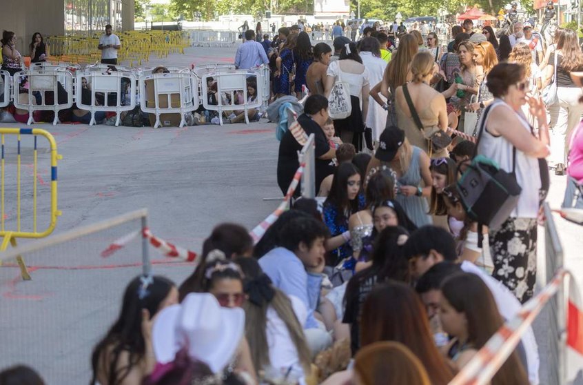
[[(324, 135), (322, 128), (320, 128), (311, 117), (305, 114), (300, 115), (300, 117), (298, 117), (298, 122), (308, 136), (314, 134), (314, 143), (316, 144), (316, 149), (314, 150), (314, 156), (316, 157), (316, 190), (318, 190), (322, 180), (334, 172), (334, 166), (331, 165), (330, 159), (318, 159), (318, 157), (321, 157), (330, 150), (330, 145), (326, 140), (326, 135)], [(289, 130), (287, 130), (281, 138), (277, 161), (277, 183), (281, 192), (283, 192), (283, 195), (287, 193), (287, 188), (289, 187), (289, 184), (292, 183), (294, 174), (300, 166), (300, 162), (298, 161), (298, 151), (302, 150), (302, 147), (303, 146), (296, 141), (296, 138), (294, 138), (294, 135), (292, 135), (292, 132)], [(300, 188), (298, 186), (298, 188), (296, 188), (295, 196), (298, 196), (299, 194)]]

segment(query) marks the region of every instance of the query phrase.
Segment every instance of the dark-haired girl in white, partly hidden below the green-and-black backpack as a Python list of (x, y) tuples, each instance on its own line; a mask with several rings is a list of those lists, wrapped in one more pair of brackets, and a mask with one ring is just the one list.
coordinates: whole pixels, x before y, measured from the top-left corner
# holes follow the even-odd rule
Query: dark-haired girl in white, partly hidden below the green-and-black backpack
[(469, 218), (462, 206), (462, 197), (456, 184), (444, 188), (442, 195), (445, 206), (447, 206), (447, 213), (463, 224), (456, 236), (460, 260), (470, 261), (486, 273), (491, 274), (494, 270), (494, 263), (490, 255), (487, 226), (480, 227), (478, 222)]

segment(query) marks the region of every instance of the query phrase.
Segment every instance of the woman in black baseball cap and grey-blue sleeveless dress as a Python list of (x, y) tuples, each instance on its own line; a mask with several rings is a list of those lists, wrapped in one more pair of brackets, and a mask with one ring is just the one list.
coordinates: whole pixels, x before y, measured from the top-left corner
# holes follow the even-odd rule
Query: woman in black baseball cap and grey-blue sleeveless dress
[[(427, 197), (431, 196), (429, 156), (416, 146), (411, 146), (405, 131), (389, 126), (380, 134), (378, 148), (367, 168), (387, 166), (396, 173), (397, 196), (407, 217), (417, 227), (432, 224)], [(421, 183), (425, 187), (421, 187)], [(365, 186), (366, 188), (366, 186)]]

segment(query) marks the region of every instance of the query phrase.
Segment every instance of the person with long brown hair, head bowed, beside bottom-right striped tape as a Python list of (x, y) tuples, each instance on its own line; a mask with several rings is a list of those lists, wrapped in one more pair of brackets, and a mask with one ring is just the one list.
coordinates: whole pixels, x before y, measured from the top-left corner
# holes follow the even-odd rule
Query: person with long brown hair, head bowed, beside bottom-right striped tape
[[(447, 355), (463, 368), (504, 322), (488, 286), (477, 275), (452, 275), (443, 282), (441, 294), (440, 321), (445, 332), (454, 337)], [(491, 384), (529, 384), (516, 352), (502, 364)]]

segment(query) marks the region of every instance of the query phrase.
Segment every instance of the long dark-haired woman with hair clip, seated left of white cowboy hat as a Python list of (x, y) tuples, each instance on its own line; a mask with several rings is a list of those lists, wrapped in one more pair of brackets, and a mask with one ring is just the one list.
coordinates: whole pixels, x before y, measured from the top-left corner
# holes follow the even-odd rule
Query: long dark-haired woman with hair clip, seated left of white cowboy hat
[(93, 349), (90, 384), (141, 385), (156, 365), (152, 319), (177, 303), (178, 290), (169, 279), (158, 275), (132, 279), (125, 288), (118, 319)]

